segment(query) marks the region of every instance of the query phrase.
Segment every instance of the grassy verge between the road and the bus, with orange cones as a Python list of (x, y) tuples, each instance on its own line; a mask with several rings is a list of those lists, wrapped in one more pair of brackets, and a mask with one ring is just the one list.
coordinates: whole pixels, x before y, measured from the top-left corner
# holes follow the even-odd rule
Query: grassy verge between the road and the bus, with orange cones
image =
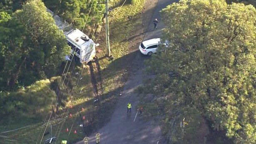
[[(17, 117), (16, 120), (10, 122), (6, 126), (1, 126), (0, 132), (17, 129), (26, 125), (30, 125), (30, 127), (2, 134), (3, 136), (7, 136), (8, 138), (0, 137), (0, 144), (1, 142), (5, 144), (35, 143), (37, 142), (39, 135), (39, 141), (41, 141), (41, 130), (45, 132), (50, 132), (50, 124), (57, 124), (55, 126), (52, 126), (52, 135), (58, 135), (60, 132), (57, 143), (60, 143), (61, 139), (67, 139), (69, 142), (73, 143), (81, 140), (85, 136), (84, 130), (79, 127), (79, 124), (83, 122), (82, 116), (85, 115), (86, 119), (88, 119), (89, 121), (88, 131), (90, 131), (90, 129), (100, 128), (105, 122), (107, 122), (107, 120), (109, 120), (109, 116), (114, 110), (114, 103), (117, 102), (117, 95), (122, 90), (125, 79), (127, 78), (126, 70), (127, 66), (129, 65), (129, 62), (125, 61), (127, 60), (127, 57), (129, 57), (127, 56), (129, 53), (129, 42), (127, 42), (127, 39), (130, 37), (131, 32), (134, 30), (134, 27), (141, 22), (138, 20), (138, 18), (140, 16), (139, 14), (142, 12), (145, 0), (137, 0), (137, 3), (134, 3), (133, 5), (128, 5), (125, 3), (122, 7), (120, 7), (120, 5), (123, 4), (124, 0), (112, 0), (112, 2), (115, 2), (112, 3), (112, 6), (116, 8), (114, 8), (113, 12), (110, 14), (112, 15), (112, 17), (109, 17), (109, 30), (111, 53), (114, 56), (114, 60), (109, 60), (105, 57), (107, 51), (105, 47), (106, 43), (104, 29), (102, 29), (100, 35), (95, 36), (96, 39), (94, 40), (100, 43), (100, 48), (97, 47), (97, 50), (102, 50), (101, 52), (97, 52), (102, 79), (102, 89), (99, 89), (101, 94), (101, 103), (98, 104), (97, 107), (95, 107), (93, 104), (94, 98), (89, 66), (85, 68), (85, 72), (83, 73), (83, 79), (81, 79), (79, 87), (75, 87), (73, 92), (71, 92), (72, 87), (74, 87), (75, 85), (75, 72), (79, 72), (81, 70), (81, 67), (76, 66), (73, 74), (71, 74), (70, 72), (67, 76), (67, 79), (65, 80), (65, 84), (60, 87), (60, 95), (65, 98), (65, 101), (62, 102), (63, 106), (59, 109), (60, 114), (57, 119), (61, 118), (62, 115), (65, 115), (64, 112), (66, 112), (67, 108), (71, 105), (73, 105), (73, 108), (70, 110), (70, 112), (72, 113), (73, 117), (68, 117), (64, 123), (60, 120), (50, 121), (47, 127), (46, 123), (44, 122), (45, 117), (43, 117), (40, 122), (34, 122), (33, 119), (20, 119), (19, 117)], [(94, 67), (94, 70), (96, 70), (95, 63), (92, 63), (92, 65)], [(98, 78), (99, 76), (97, 75), (97, 73), (95, 74)], [(122, 76), (122, 74), (125, 76)], [(56, 89), (59, 80), (60, 77), (51, 78), (50, 83), (47, 83), (47, 88)], [(68, 80), (70, 80), (70, 83), (67, 85), (68, 89), (64, 94)], [(45, 93), (42, 93), (42, 95), (43, 94)], [(73, 94), (75, 94), (76, 97), (74, 101), (71, 101)], [(85, 107), (84, 112), (80, 111), (82, 106)], [(42, 111), (44, 111), (43, 109), (51, 108), (42, 108)], [(46, 116), (45, 113), (42, 115)], [(62, 123), (63, 126), (60, 131)], [(72, 124), (74, 124), (73, 127)], [(70, 130), (70, 133), (66, 132), (67, 128)], [(77, 131), (77, 134), (73, 133), (75, 130)], [(48, 138), (50, 138), (50, 134), (43, 137), (42, 142)], [(12, 139), (17, 141), (8, 142), (4, 139)]]

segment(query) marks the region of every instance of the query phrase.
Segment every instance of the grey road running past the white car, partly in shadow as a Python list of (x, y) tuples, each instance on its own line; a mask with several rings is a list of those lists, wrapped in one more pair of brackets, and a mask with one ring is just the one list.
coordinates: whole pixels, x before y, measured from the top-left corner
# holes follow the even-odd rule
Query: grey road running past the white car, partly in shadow
[[(143, 40), (148, 40), (151, 38), (157, 38), (161, 36), (161, 28), (163, 24), (161, 21), (159, 11), (172, 2), (177, 2), (178, 0), (149, 0), (152, 2), (153, 7), (151, 15), (148, 17), (143, 17), (147, 21), (144, 27), (147, 27), (146, 32), (143, 32)], [(155, 2), (155, 3), (154, 3)], [(146, 4), (147, 5), (147, 4)], [(152, 6), (152, 5), (151, 5)], [(149, 10), (150, 11), (150, 10)], [(147, 15), (148, 16), (148, 15)], [(159, 25), (157, 30), (154, 30), (153, 20), (157, 17), (159, 19)], [(148, 18), (148, 19), (147, 19)], [(150, 21), (149, 21), (150, 20)], [(138, 47), (137, 45), (134, 47)], [(134, 93), (139, 85), (142, 84), (143, 77), (147, 77), (142, 73), (144, 68), (144, 60), (150, 57), (142, 55), (138, 50), (135, 51), (135, 59), (133, 63), (137, 67), (137, 71), (132, 74), (131, 79), (129, 79), (122, 92), (122, 96), (119, 98), (116, 109), (112, 114), (110, 122), (99, 129), (101, 134), (100, 143), (101, 144), (163, 144), (164, 139), (162, 138), (161, 130), (158, 124), (154, 123), (153, 120), (148, 121), (142, 119), (142, 117), (136, 116), (137, 110), (136, 105), (139, 102), (137, 94)], [(132, 104), (132, 113), (127, 116), (127, 103)], [(78, 142), (77, 144), (84, 144), (83, 142)], [(95, 144), (95, 134), (89, 136), (89, 144)]]

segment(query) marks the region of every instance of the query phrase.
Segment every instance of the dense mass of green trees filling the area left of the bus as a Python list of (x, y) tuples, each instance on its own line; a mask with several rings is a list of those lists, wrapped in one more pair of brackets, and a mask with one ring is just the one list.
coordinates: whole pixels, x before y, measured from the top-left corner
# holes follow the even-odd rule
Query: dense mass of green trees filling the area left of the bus
[(0, 12), (0, 90), (55, 74), (69, 47), (40, 0)]

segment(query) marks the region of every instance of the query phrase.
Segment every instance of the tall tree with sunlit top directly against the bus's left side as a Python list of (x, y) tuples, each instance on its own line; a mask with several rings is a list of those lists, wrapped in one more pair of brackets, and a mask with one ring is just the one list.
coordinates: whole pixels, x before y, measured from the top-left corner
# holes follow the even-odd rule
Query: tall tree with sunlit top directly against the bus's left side
[(69, 47), (45, 5), (40, 0), (31, 1), (17, 10), (15, 18), (26, 27), (32, 40), (29, 68), (43, 70), (48, 77), (54, 75)]

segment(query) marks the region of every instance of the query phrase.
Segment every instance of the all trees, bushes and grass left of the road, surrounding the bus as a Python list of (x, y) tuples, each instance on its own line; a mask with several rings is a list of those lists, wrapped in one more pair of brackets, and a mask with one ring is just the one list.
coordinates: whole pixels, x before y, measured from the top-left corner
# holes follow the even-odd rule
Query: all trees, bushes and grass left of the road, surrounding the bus
[[(52, 125), (52, 136), (58, 136), (58, 143), (61, 139), (77, 142), (85, 134), (101, 127), (111, 116), (114, 102), (127, 79), (129, 61), (122, 59), (129, 52), (127, 39), (134, 26), (140, 23), (144, 0), (112, 0), (109, 29), (114, 59), (105, 57), (105, 32), (104, 29), (100, 31), (100, 27), (104, 27), (103, 14), (100, 13), (104, 4), (96, 5), (95, 1), (89, 5), (88, 0), (86, 6), (75, 1), (79, 4), (74, 4), (80, 7), (77, 17), (71, 17), (71, 13), (77, 12), (76, 7), (72, 7), (73, 1), (65, 2), (63, 7), (49, 7), (57, 14), (63, 11), (70, 13), (60, 16), (76, 28), (83, 28), (77, 20), (84, 24), (88, 18), (84, 32), (92, 37), (95, 31), (94, 41), (100, 43), (97, 60), (82, 66), (69, 62), (69, 72), (66, 69), (63, 76), (61, 74), (66, 65), (63, 59), (70, 51), (64, 34), (46, 12), (44, 3), (40, 0), (26, 2), (17, 2), (18, 5), (8, 0), (0, 2), (0, 132), (28, 126), (0, 134), (3, 136), (0, 141), (27, 144), (42, 139), (44, 142), (51, 136)], [(50, 1), (44, 2), (50, 5), (47, 4)], [(84, 11), (88, 7), (92, 7), (92, 12), (86, 17), (88, 12)], [(97, 29), (93, 29), (95, 27)], [(13, 79), (9, 80), (7, 76), (12, 75)], [(96, 84), (93, 79), (96, 79)], [(12, 83), (7, 85), (7, 82)], [(98, 98), (100, 103), (94, 104)], [(83, 111), (82, 107), (85, 108)], [(87, 128), (80, 127), (80, 124), (87, 125)], [(69, 132), (66, 132), (67, 128)], [(77, 134), (74, 134), (75, 130)]]

